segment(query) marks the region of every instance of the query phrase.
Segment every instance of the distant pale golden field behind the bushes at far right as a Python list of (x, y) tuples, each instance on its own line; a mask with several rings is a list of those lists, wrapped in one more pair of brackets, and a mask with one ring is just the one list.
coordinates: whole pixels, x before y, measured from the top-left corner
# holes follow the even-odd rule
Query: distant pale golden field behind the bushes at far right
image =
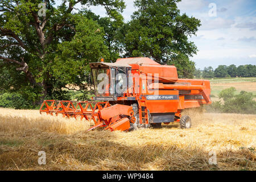
[(236, 94), (240, 93), (242, 90), (246, 92), (252, 92), (254, 94), (254, 100), (256, 100), (256, 78), (221, 78), (210, 80), (210, 86), (212, 89), (212, 100), (218, 100), (218, 94), (221, 90), (234, 87), (237, 89)]

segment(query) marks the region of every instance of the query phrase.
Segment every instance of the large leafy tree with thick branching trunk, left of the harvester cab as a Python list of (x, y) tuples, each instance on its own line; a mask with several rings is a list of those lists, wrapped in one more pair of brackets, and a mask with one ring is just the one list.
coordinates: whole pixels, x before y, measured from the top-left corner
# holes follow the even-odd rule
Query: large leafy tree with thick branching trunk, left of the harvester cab
[[(108, 35), (114, 39), (125, 8), (122, 0), (68, 0), (57, 7), (54, 0), (43, 2), (46, 17), (38, 16), (41, 0), (3, 0), (0, 7), (0, 93), (19, 93), (34, 106), (44, 98), (69, 98), (62, 89), (67, 84), (86, 89), (88, 63), (118, 56)], [(74, 13), (79, 2), (104, 6), (108, 17), (94, 19), (88, 10)]]

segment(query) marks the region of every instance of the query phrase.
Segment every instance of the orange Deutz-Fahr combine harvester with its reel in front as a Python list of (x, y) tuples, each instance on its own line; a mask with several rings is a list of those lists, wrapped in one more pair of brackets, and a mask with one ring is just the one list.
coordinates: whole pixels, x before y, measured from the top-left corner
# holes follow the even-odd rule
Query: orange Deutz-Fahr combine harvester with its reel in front
[(46, 100), (40, 113), (93, 120), (89, 130), (130, 131), (171, 122), (188, 129), (191, 118), (181, 116), (181, 111), (212, 103), (209, 80), (180, 79), (175, 66), (160, 65), (147, 57), (115, 63), (101, 59), (90, 63), (90, 68), (96, 90), (92, 102)]

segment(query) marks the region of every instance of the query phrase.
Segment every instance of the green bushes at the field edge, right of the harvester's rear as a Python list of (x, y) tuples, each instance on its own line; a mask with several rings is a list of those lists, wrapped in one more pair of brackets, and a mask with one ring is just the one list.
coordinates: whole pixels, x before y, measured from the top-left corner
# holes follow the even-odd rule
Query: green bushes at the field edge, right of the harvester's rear
[(240, 113), (240, 114), (256, 114), (256, 101), (253, 100), (253, 93), (241, 91), (235, 95), (235, 88), (224, 89), (220, 92), (221, 101), (213, 102), (208, 106), (209, 111), (217, 111), (222, 113)]

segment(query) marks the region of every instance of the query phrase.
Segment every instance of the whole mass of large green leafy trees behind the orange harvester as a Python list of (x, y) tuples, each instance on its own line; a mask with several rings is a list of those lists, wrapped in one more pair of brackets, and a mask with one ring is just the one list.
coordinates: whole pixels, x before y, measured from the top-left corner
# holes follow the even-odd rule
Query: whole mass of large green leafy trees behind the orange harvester
[[(26, 100), (25, 108), (39, 106), (46, 98), (87, 99), (91, 96), (86, 91), (89, 63), (101, 57), (115, 61), (119, 53), (175, 64), (179, 77), (193, 77), (195, 63), (189, 57), (197, 49), (188, 36), (196, 34), (200, 20), (181, 15), (176, 6), (179, 1), (137, 0), (139, 10), (130, 22), (123, 23), (123, 0), (68, 0), (57, 7), (54, 0), (43, 1), (45, 17), (38, 15), (41, 0), (3, 0), (0, 93), (18, 94)], [(79, 2), (87, 7), (104, 6), (108, 16), (100, 17), (87, 9), (73, 12)], [(63, 89), (67, 85), (79, 87), (79, 96)]]

